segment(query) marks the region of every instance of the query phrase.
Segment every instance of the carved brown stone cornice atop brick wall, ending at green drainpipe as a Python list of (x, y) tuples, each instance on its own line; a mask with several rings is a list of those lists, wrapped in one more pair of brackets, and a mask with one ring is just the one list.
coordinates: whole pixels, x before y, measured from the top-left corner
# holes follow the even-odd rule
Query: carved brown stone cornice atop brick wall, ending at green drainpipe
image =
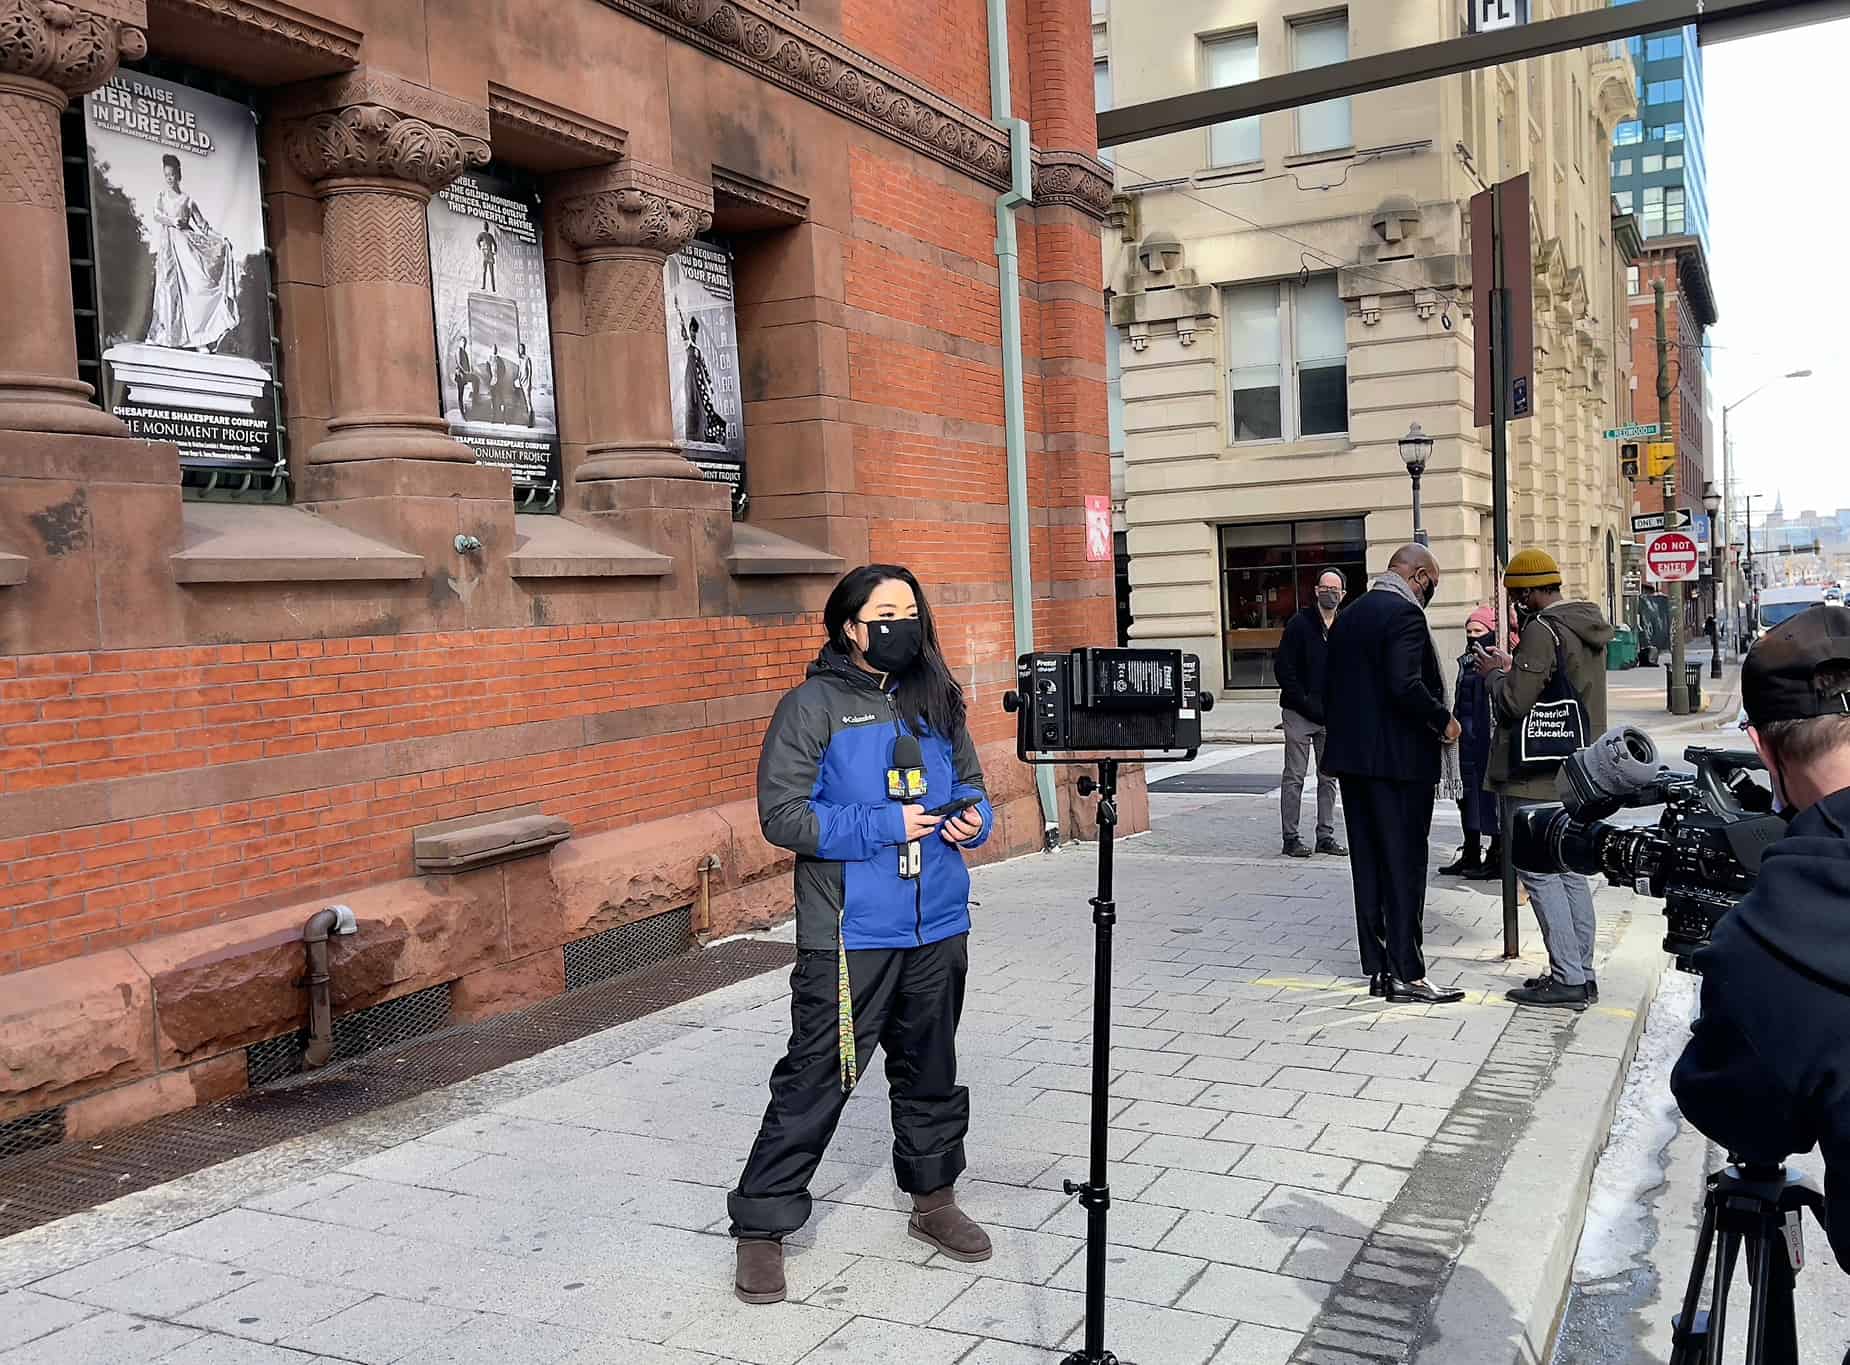
[(775, 0), (601, 4), (986, 185), (1008, 185), (1001, 128), (810, 28)]

